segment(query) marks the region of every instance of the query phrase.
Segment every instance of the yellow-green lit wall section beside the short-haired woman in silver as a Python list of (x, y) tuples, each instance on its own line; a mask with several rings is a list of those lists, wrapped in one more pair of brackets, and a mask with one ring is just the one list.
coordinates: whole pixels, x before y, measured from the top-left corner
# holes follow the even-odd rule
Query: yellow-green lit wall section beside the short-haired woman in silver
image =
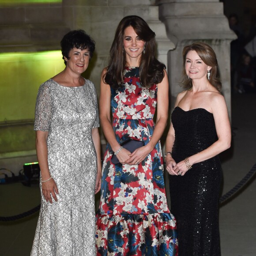
[(40, 84), (64, 68), (60, 50), (0, 53), (0, 122), (34, 119)]

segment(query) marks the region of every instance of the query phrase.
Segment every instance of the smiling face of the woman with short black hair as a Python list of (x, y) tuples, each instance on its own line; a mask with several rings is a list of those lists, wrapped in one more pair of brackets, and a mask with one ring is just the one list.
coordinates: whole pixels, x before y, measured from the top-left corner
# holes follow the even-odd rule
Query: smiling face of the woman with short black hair
[(64, 58), (67, 61), (67, 69), (79, 75), (86, 71), (90, 60), (90, 52), (87, 49), (73, 48), (69, 51), (68, 57), (69, 60)]

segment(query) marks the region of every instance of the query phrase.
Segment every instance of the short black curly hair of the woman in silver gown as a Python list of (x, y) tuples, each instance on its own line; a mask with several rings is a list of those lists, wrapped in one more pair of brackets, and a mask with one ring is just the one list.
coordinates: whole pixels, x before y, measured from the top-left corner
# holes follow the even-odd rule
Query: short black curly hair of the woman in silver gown
[[(80, 50), (87, 49), (90, 52), (90, 59), (93, 56), (95, 50), (95, 41), (90, 38), (89, 35), (86, 34), (84, 30), (71, 30), (67, 34), (64, 35), (62, 40), (60, 41), (62, 59), (66, 57), (68, 60), (70, 57), (68, 56), (69, 52), (73, 48), (77, 48)], [(67, 61), (64, 60), (65, 65), (67, 65)]]

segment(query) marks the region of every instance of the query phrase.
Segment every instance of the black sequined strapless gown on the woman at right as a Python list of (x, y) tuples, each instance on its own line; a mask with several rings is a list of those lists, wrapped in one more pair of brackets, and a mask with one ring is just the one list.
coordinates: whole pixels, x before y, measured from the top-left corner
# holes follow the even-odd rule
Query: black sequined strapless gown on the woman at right
[[(173, 159), (178, 163), (217, 140), (213, 114), (206, 109), (172, 113)], [(171, 212), (177, 219), (179, 256), (219, 256), (218, 198), (222, 169), (218, 156), (196, 163), (184, 176), (170, 177)]]

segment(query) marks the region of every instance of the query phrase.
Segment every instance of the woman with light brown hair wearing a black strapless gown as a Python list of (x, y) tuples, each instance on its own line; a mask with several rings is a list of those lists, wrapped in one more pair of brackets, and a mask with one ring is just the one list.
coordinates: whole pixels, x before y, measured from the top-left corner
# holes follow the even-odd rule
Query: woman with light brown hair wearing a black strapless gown
[(165, 155), (179, 256), (219, 256), (218, 154), (230, 147), (230, 122), (213, 49), (205, 43), (188, 45), (183, 63), (187, 90), (177, 96)]

